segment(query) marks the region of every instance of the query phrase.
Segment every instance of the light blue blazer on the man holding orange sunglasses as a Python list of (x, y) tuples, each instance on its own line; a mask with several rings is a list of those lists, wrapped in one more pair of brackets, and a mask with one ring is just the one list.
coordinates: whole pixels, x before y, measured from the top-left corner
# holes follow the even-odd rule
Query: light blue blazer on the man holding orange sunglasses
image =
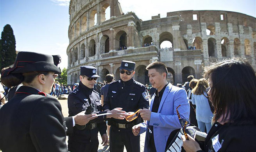
[[(152, 96), (150, 111), (152, 111), (152, 105), (154, 103), (155, 94)], [(168, 84), (163, 93), (158, 113), (152, 112), (150, 121), (147, 125), (152, 125), (154, 130), (154, 141), (157, 152), (164, 152), (167, 139), (172, 131), (181, 128), (179, 118), (177, 116), (176, 108), (181, 115), (181, 118), (189, 118), (190, 105), (188, 102), (188, 96), (183, 88), (175, 87), (172, 84)], [(140, 134), (147, 131), (147, 127), (144, 123), (140, 124)], [(149, 148), (149, 131), (146, 133), (144, 152), (150, 152)]]

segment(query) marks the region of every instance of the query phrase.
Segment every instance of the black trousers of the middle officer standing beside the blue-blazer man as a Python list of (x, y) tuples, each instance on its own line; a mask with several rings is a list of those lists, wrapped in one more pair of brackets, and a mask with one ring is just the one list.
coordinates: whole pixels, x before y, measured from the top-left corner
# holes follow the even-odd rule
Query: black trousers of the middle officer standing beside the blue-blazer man
[(110, 152), (140, 152), (140, 136), (132, 134), (132, 128), (118, 128), (111, 125), (109, 130)]

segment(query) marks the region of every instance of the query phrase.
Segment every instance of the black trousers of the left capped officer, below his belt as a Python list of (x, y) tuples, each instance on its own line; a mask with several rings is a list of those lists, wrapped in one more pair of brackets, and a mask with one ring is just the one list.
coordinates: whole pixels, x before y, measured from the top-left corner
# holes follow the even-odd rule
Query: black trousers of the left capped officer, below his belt
[(68, 151), (70, 152), (98, 152), (98, 138), (88, 143), (68, 140)]

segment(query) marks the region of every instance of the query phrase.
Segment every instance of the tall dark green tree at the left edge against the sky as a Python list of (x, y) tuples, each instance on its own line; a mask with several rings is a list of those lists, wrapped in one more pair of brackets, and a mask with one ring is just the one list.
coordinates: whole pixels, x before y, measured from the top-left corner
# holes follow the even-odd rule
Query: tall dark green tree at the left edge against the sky
[(14, 64), (16, 58), (16, 41), (13, 35), (13, 28), (11, 25), (7, 24), (4, 26), (4, 30), (1, 35), (1, 56), (2, 56), (2, 66), (1, 69), (4, 67), (8, 67), (9, 65)]

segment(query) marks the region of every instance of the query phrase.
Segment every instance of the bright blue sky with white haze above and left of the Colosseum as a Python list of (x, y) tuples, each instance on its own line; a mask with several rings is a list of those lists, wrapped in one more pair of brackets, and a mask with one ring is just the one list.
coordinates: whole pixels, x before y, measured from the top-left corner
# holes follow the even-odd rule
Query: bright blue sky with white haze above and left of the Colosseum
[[(119, 0), (122, 11), (135, 12), (143, 21), (181, 10), (225, 10), (256, 17), (256, 0)], [(0, 29), (10, 24), (17, 51), (61, 55), (67, 67), (69, 0), (0, 0)]]

